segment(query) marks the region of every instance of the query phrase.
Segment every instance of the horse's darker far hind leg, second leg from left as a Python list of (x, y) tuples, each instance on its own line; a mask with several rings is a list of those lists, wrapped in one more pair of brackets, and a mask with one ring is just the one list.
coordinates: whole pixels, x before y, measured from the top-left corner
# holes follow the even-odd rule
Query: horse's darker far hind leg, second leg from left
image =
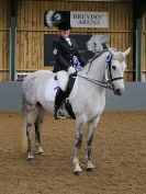
[(41, 104), (37, 105), (37, 109), (38, 109), (38, 113), (37, 113), (36, 121), (34, 123), (35, 125), (35, 147), (38, 149), (38, 155), (45, 155), (43, 148), (41, 147), (41, 128), (42, 128), (42, 123), (45, 116), (45, 110)]

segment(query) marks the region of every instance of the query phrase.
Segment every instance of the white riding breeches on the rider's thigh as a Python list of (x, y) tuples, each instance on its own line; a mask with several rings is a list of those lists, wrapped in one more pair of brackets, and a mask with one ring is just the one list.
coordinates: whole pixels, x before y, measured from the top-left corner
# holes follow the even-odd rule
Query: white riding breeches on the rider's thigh
[(58, 79), (58, 84), (59, 88), (65, 92), (69, 79), (69, 73), (67, 71), (58, 71), (56, 72), (57, 79)]

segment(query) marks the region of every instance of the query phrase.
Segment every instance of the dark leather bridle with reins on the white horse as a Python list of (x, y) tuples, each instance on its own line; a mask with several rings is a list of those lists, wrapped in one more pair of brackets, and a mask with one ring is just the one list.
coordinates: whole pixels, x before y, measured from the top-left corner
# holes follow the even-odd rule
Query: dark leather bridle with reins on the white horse
[[(105, 50), (103, 50), (105, 52)], [(101, 52), (100, 54), (96, 55), (91, 60), (90, 60), (90, 65), (89, 65), (89, 68), (88, 68), (88, 71), (87, 73), (89, 72), (90, 68), (91, 68), (91, 65), (93, 62), (93, 60), (96, 60), (103, 52)], [(114, 59), (115, 60), (115, 59)], [(105, 88), (105, 89), (110, 89), (110, 90), (114, 90), (114, 84), (113, 84), (113, 81), (116, 81), (116, 80), (121, 80), (121, 79), (124, 79), (123, 77), (116, 77), (116, 78), (113, 78), (112, 77), (112, 66), (111, 66), (111, 61), (112, 61), (112, 55), (109, 55), (105, 59), (106, 61), (106, 68), (108, 68), (108, 81), (101, 81), (101, 80), (97, 80), (97, 79), (91, 79), (89, 77), (86, 77), (86, 76), (81, 76), (81, 75), (78, 75), (80, 78), (83, 78), (97, 85), (100, 85), (102, 88)]]

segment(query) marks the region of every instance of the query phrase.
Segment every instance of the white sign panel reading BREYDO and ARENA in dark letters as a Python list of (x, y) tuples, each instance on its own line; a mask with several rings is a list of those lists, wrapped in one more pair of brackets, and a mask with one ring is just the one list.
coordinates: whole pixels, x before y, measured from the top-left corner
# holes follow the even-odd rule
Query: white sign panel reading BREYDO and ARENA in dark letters
[(108, 27), (108, 12), (70, 12), (71, 27)]

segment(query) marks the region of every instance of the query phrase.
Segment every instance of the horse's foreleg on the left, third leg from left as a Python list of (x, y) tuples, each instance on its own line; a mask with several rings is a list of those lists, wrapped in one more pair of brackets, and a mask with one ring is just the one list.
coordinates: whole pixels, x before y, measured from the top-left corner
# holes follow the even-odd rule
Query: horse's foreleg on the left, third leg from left
[(75, 175), (80, 175), (81, 173), (81, 168), (79, 166), (79, 149), (82, 142), (83, 126), (85, 126), (85, 122), (81, 122), (81, 119), (76, 118), (76, 140), (75, 140), (75, 156), (74, 156)]

